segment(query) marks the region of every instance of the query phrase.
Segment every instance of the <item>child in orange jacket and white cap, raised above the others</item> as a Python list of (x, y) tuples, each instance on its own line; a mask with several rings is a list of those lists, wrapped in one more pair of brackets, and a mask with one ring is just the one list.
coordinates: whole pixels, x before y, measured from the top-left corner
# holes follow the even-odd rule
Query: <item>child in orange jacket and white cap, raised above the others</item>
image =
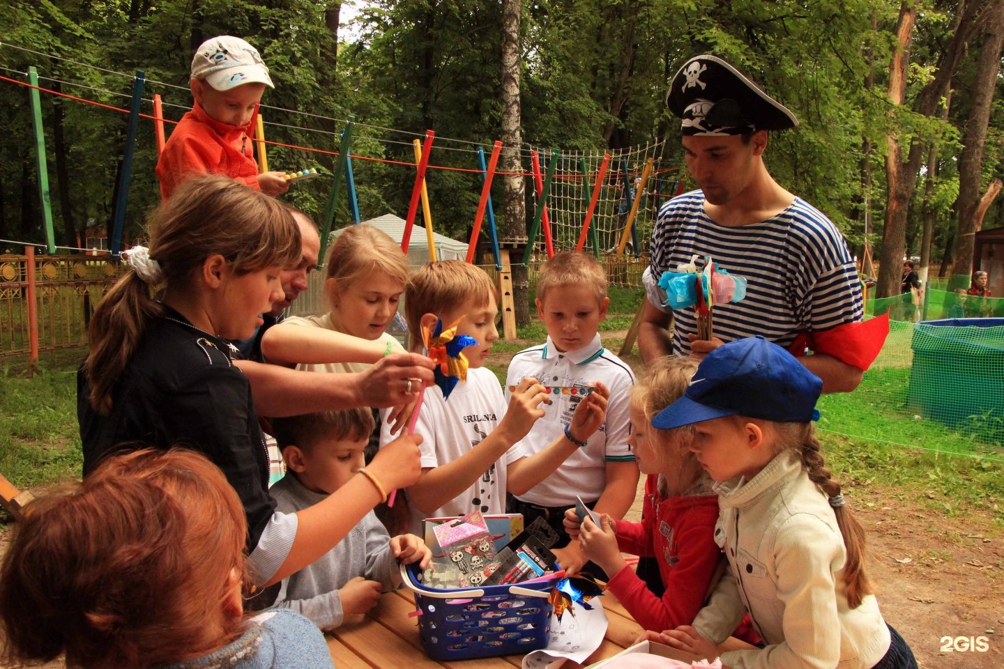
[(157, 160), (167, 200), (192, 175), (226, 175), (269, 196), (289, 189), (281, 172), (258, 173), (251, 137), (255, 107), (275, 88), (258, 50), (239, 37), (203, 42), (192, 58), (192, 110), (182, 116)]

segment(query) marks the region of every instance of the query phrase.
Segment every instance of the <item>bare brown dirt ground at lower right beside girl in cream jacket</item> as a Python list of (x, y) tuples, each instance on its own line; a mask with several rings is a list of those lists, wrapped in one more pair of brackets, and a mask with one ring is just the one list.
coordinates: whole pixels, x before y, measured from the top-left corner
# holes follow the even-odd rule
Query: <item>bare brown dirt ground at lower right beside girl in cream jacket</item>
[[(509, 357), (498, 353), (492, 365), (506, 365)], [(624, 360), (640, 369), (637, 357)], [(873, 486), (848, 488), (867, 532), (867, 568), (883, 615), (920, 667), (1004, 667), (1004, 538), (990, 518), (919, 512)], [(641, 485), (632, 515), (641, 516)], [(5, 548), (6, 535), (0, 554)], [(53, 662), (43, 669), (62, 667)]]

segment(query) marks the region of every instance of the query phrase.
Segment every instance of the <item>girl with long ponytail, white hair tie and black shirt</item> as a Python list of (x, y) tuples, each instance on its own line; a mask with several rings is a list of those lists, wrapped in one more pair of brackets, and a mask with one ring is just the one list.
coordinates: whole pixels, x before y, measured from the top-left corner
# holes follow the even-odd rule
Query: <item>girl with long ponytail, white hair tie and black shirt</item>
[(415, 482), (421, 437), (388, 444), (367, 467), (371, 477), (354, 476), (315, 507), (275, 513), (251, 387), (227, 340), (251, 336), (260, 314), (282, 298), (279, 272), (300, 262), (296, 222), (272, 198), (201, 176), (161, 205), (148, 235), (149, 248), (122, 254), (129, 269), (90, 322), (77, 382), (83, 473), (109, 453), (143, 445), (204, 453), (244, 507), (253, 583), (277, 584), (384, 498), (374, 481), (386, 490)]

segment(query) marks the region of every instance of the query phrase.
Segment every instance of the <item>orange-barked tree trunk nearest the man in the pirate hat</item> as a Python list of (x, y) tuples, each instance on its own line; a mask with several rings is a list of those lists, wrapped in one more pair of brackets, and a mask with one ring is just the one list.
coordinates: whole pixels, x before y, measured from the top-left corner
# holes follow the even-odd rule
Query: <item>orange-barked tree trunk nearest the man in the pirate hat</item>
[[(907, 88), (907, 67), (910, 64), (910, 41), (917, 22), (917, 7), (909, 0), (900, 6), (900, 19), (896, 28), (896, 52), (889, 65), (890, 101), (902, 105)], [(889, 297), (900, 292), (903, 267), (903, 251), (906, 247), (907, 214), (910, 211), (912, 183), (910, 175), (904, 174), (900, 158), (902, 149), (900, 137), (891, 132), (886, 140), (889, 153), (886, 155), (886, 228), (882, 238), (882, 267), (878, 268), (878, 297)]]

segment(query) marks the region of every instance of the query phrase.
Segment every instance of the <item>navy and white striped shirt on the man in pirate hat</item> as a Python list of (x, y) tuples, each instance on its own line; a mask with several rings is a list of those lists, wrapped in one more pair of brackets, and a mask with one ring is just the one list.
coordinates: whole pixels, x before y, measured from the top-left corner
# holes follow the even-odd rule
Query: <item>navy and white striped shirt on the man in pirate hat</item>
[[(704, 194), (692, 191), (666, 203), (652, 234), (645, 282), (649, 300), (665, 307), (657, 286), (663, 272), (676, 271), (697, 254), (730, 274), (746, 277), (746, 299), (716, 305), (714, 335), (722, 341), (763, 335), (788, 348), (802, 331), (820, 332), (861, 320), (860, 280), (846, 242), (829, 219), (795, 198), (777, 216), (749, 226), (721, 226), (704, 213)], [(672, 311), (673, 351), (690, 352), (687, 334), (697, 334), (693, 308)]]

